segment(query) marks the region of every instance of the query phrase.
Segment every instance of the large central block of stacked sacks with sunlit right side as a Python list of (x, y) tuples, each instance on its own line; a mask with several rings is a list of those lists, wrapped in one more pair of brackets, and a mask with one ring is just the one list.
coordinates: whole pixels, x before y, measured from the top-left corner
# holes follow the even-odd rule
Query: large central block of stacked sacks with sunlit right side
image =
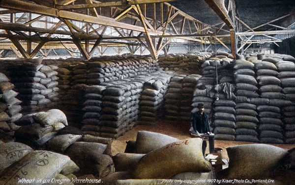
[(122, 79), (102, 83), (102, 110), (100, 137), (118, 138), (130, 130), (139, 114), (139, 98), (144, 82), (140, 79)]

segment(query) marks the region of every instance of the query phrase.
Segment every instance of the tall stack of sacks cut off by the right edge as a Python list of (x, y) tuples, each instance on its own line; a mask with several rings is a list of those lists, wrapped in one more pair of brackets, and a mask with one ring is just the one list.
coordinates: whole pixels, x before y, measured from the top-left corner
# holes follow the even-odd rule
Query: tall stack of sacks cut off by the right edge
[(285, 100), (292, 104), (282, 107), (283, 122), (285, 125), (284, 142), (295, 143), (295, 58), (290, 55), (283, 56), (283, 61), (275, 65), (279, 71), (277, 76), (281, 80), (281, 87)]

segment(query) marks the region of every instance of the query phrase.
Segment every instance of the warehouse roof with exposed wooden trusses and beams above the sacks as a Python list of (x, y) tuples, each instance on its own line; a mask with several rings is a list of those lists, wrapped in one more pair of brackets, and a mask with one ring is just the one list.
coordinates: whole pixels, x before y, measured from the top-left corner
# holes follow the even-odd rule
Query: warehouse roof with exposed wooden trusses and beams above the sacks
[(73, 42), (85, 58), (103, 44), (156, 58), (170, 45), (282, 42), (295, 35), (295, 0), (0, 0), (0, 22), (0, 37), (27, 58), (53, 42)]

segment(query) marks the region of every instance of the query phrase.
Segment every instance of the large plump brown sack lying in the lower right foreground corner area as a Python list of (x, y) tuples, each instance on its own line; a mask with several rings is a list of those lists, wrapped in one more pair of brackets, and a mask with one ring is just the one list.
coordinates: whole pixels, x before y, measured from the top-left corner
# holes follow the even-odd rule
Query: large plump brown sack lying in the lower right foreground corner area
[(288, 155), (282, 148), (267, 144), (247, 144), (227, 148), (230, 159), (227, 179), (259, 179)]

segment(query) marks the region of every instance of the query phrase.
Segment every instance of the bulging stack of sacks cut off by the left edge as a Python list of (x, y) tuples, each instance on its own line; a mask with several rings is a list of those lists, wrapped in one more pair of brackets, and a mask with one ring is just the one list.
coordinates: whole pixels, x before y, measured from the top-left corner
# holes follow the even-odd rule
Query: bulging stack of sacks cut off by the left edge
[(13, 137), (14, 131), (19, 128), (15, 122), (23, 116), (20, 113), (21, 101), (15, 97), (18, 93), (13, 91), (13, 88), (14, 85), (9, 82), (7, 76), (0, 73), (0, 131), (7, 133), (10, 137)]

